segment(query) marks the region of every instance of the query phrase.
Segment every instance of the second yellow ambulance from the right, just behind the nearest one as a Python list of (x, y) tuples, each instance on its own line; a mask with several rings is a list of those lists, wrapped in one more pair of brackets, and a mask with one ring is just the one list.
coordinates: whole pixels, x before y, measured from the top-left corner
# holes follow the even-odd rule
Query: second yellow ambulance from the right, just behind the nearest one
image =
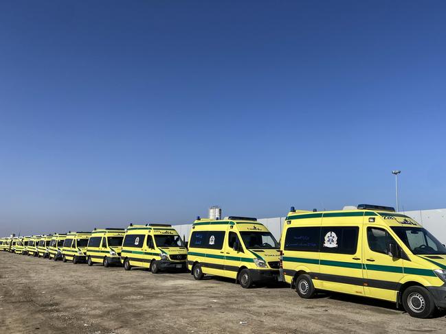
[(234, 278), (244, 288), (274, 283), (279, 256), (278, 242), (256, 218), (197, 217), (190, 230), (188, 269), (197, 280), (209, 274)]

